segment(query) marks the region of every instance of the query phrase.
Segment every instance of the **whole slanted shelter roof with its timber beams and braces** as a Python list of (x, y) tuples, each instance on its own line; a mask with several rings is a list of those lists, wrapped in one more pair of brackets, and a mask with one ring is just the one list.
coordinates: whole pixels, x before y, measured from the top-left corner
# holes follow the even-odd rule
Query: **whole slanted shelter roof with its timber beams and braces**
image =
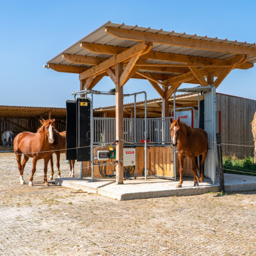
[(108, 21), (49, 60), (46, 67), (79, 74), (84, 90), (104, 76), (115, 82), (115, 65), (123, 63), (121, 86), (130, 78), (146, 79), (166, 99), (184, 82), (218, 87), (232, 69), (252, 68), (254, 62), (255, 43)]

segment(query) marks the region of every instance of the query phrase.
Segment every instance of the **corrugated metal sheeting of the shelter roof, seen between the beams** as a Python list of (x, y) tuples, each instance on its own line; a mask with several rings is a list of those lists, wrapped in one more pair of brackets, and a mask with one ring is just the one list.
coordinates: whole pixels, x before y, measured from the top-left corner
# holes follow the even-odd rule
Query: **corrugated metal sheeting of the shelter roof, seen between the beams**
[[(91, 66), (91, 65), (81, 65), (81, 64), (71, 63), (68, 60), (65, 60), (62, 58), (63, 53), (77, 54), (77, 55), (84, 55), (84, 56), (93, 56), (93, 57), (104, 57), (104, 58), (112, 57), (112, 55), (108, 55), (108, 54), (97, 54), (97, 53), (87, 51), (86, 49), (83, 49), (80, 47), (81, 42), (106, 44), (106, 45), (110, 45), (110, 46), (120, 46), (120, 47), (125, 47), (125, 48), (131, 48), (132, 46), (134, 46), (135, 44), (138, 43), (137, 41), (124, 40), (124, 39), (113, 37), (112, 35), (105, 33), (106, 26), (118, 27), (118, 28), (122, 28), (122, 29), (138, 30), (138, 31), (143, 31), (143, 32), (151, 32), (154, 34), (172, 35), (175, 37), (193, 38), (193, 39), (201, 40), (201, 41), (213, 41), (213, 42), (218, 42), (218, 43), (223, 43), (223, 44), (234, 44), (234, 45), (238, 45), (238, 46), (247, 46), (247, 47), (256, 48), (255, 43), (238, 42), (236, 40), (230, 41), (227, 39), (219, 39), (216, 37), (215, 38), (207, 37), (207, 36), (201, 37), (198, 35), (188, 35), (185, 33), (177, 33), (174, 31), (168, 32), (168, 31), (164, 31), (162, 29), (160, 29), (160, 30), (151, 29), (150, 27), (147, 28), (147, 27), (138, 27), (138, 26), (128, 26), (128, 25), (125, 25), (124, 23), (115, 24), (115, 23), (111, 23), (111, 21), (108, 21), (107, 23), (105, 23), (104, 25), (99, 27), (98, 29), (91, 32), (91, 34), (80, 39), (79, 41), (77, 41), (77, 43), (74, 43), (68, 49), (61, 52), (59, 55), (57, 55), (53, 59), (49, 60), (49, 62), (47, 62), (47, 64), (51, 63), (51, 64), (60, 64), (60, 65), (73, 65), (73, 66), (88, 66), (88, 67)], [(216, 52), (216, 51), (208, 51), (208, 50), (203, 50), (203, 49), (194, 49), (194, 48), (187, 48), (187, 47), (180, 47), (180, 46), (170, 46), (170, 45), (158, 44), (158, 43), (153, 43), (153, 47), (152, 47), (151, 51), (168, 52), (168, 53), (198, 56), (198, 57), (208, 57), (208, 58), (219, 59), (219, 60), (226, 60), (226, 59), (229, 59), (230, 57), (235, 56), (235, 54), (230, 54), (230, 53), (226, 53), (226, 52)], [(247, 63), (255, 63), (255, 62), (256, 62), (256, 57), (249, 56)], [(172, 62), (148, 60), (147, 63), (171, 64)], [(169, 74), (171, 74), (171, 73), (169, 73)]]

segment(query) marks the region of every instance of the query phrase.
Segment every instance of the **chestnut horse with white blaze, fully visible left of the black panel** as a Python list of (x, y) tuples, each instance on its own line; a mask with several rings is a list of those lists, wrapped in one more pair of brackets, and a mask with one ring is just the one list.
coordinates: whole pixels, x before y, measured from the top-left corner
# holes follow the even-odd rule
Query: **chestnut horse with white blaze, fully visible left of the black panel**
[[(44, 185), (49, 186), (47, 182), (47, 166), (51, 158), (52, 147), (54, 143), (54, 122), (55, 119), (41, 121), (42, 126), (33, 132), (21, 132), (13, 141), (13, 149), (16, 154), (16, 160), (20, 171), (20, 183), (24, 184), (23, 171), (24, 167), (29, 160), (33, 158), (32, 174), (29, 181), (29, 186), (33, 187), (33, 176), (35, 174), (37, 161), (44, 159)], [(21, 155), (24, 155), (23, 162), (21, 163)]]

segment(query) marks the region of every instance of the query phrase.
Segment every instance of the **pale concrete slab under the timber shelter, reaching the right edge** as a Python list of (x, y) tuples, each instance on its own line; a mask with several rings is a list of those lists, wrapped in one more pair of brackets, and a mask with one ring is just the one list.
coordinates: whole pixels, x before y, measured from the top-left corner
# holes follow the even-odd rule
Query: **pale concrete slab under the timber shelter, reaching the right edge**
[[(243, 176), (236, 174), (224, 174), (225, 191), (250, 191), (256, 190), (256, 177)], [(98, 193), (118, 200), (144, 199), (151, 197), (165, 196), (192, 196), (208, 192), (218, 192), (218, 175), (216, 184), (206, 178), (204, 182), (199, 183), (199, 187), (194, 187), (193, 178), (185, 177), (182, 188), (176, 188), (179, 181), (162, 179), (159, 177), (143, 177), (124, 180), (123, 185), (116, 185), (115, 179), (96, 179), (91, 182), (89, 178), (60, 178), (55, 179), (55, 183), (68, 188), (86, 191), (88, 193)]]

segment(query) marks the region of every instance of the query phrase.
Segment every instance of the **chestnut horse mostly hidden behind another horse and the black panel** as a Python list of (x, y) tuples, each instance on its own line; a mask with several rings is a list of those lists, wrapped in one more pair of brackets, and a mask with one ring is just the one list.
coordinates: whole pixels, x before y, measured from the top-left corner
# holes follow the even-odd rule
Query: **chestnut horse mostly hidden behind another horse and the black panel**
[[(52, 143), (52, 149), (54, 150), (54, 153), (56, 154), (56, 166), (58, 169), (58, 178), (60, 178), (60, 154), (65, 153), (66, 154), (66, 131), (64, 132), (58, 132), (55, 130), (54, 132), (54, 143)], [(74, 177), (74, 163), (75, 160), (68, 160), (69, 162), (69, 176)], [(54, 167), (53, 167), (53, 159), (52, 155), (50, 158), (50, 164), (51, 164), (51, 176), (49, 177), (49, 180), (53, 179), (54, 176)]]

